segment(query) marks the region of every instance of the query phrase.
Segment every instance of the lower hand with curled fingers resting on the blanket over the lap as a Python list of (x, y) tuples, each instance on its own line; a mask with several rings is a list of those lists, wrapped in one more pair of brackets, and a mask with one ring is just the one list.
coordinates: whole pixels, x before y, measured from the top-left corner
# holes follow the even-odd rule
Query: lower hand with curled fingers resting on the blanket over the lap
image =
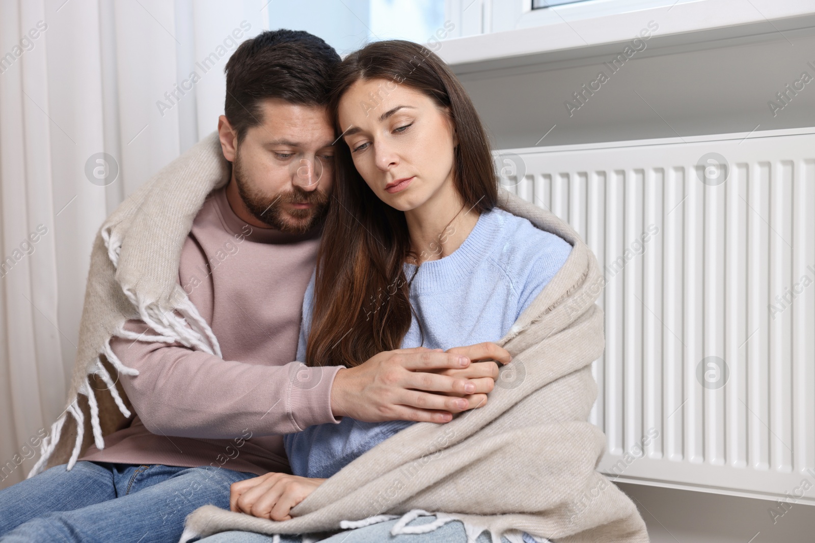
[(289, 510), (315, 491), (324, 479), (309, 479), (287, 473), (267, 473), (232, 483), (229, 509), (261, 519), (289, 520)]

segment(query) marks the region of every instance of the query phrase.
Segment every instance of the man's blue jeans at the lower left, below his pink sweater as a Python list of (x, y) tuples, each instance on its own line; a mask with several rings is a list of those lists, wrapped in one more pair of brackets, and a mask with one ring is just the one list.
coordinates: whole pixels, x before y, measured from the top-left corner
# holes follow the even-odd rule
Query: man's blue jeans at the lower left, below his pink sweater
[(229, 509), (229, 487), (253, 473), (212, 466), (77, 462), (0, 490), (0, 541), (177, 543), (197, 507)]

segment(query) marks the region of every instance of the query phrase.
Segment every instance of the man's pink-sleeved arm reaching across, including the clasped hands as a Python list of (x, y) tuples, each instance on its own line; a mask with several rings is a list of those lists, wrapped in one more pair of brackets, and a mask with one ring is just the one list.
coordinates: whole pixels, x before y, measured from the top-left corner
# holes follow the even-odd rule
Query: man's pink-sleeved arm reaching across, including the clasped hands
[[(151, 335), (147, 325), (126, 328)], [(139, 375), (122, 386), (149, 431), (166, 436), (226, 439), (246, 428), (256, 436), (288, 434), (344, 415), (364, 422), (416, 420), (444, 423), (483, 405), (497, 376), (491, 358), (509, 362), (495, 344), (442, 353), (399, 349), (354, 368), (308, 367), (301, 362), (262, 366), (221, 358), (182, 344), (114, 337), (111, 348)], [(469, 355), (469, 357), (467, 356)], [(460, 366), (463, 359), (465, 366)], [(474, 391), (465, 389), (472, 383)], [(460, 405), (458, 402), (464, 401)]]

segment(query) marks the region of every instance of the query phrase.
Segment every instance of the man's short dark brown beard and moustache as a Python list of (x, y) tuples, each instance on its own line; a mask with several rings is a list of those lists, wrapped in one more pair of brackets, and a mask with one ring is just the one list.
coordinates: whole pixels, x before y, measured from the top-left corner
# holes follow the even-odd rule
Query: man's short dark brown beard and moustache
[[(270, 196), (249, 186), (244, 176), (240, 155), (236, 152), (232, 174), (240, 198), (253, 217), (264, 224), (289, 234), (305, 234), (323, 221), (328, 212), (328, 195), (324, 190), (302, 190), (295, 186)], [(312, 204), (311, 208), (284, 208), (284, 204)]]

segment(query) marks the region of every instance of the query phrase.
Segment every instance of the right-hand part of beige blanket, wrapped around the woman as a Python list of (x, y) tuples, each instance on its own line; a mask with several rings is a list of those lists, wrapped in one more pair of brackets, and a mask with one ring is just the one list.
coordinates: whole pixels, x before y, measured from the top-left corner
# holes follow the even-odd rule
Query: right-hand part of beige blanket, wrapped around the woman
[[(437, 514), (438, 526), (465, 523), (521, 541), (521, 532), (557, 543), (649, 541), (637, 508), (595, 471), (606, 444), (587, 422), (597, 396), (592, 361), (604, 348), (603, 284), (591, 250), (564, 221), (506, 190), (500, 207), (566, 239), (563, 268), (499, 344), (513, 355), (489, 402), (450, 423), (417, 423), (378, 444), (273, 522), (204, 506), (182, 537), (226, 530), (313, 533), (403, 516)], [(355, 522), (359, 521), (359, 522)]]

